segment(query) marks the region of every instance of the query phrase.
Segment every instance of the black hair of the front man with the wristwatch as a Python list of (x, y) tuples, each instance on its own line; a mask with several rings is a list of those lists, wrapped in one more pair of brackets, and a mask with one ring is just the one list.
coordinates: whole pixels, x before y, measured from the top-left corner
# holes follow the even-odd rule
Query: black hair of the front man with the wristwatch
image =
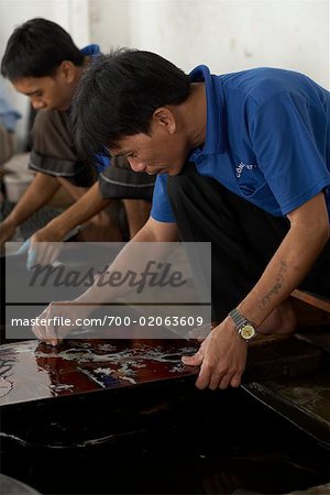
[(119, 48), (100, 55), (85, 70), (73, 100), (76, 145), (91, 160), (120, 138), (148, 134), (158, 107), (178, 106), (190, 94), (190, 79), (151, 52)]

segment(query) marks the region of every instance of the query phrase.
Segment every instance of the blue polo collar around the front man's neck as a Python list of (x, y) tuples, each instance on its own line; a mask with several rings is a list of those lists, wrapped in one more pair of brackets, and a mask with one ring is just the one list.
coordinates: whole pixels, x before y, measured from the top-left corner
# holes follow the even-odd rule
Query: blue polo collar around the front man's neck
[(189, 74), (191, 82), (202, 82), (207, 97), (207, 134), (201, 153), (211, 155), (224, 153), (224, 98), (220, 77), (211, 76), (206, 65), (199, 65)]

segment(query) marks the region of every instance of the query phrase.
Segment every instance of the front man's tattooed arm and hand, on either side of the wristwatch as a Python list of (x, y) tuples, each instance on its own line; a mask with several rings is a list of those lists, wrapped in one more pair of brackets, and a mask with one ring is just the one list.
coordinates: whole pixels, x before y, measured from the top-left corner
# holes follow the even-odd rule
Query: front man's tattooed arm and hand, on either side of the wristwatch
[[(288, 215), (290, 229), (254, 288), (238, 306), (256, 327), (292, 294), (310, 271), (329, 239), (323, 194)], [(197, 387), (238, 387), (246, 364), (246, 343), (228, 316), (185, 364), (201, 365)]]

